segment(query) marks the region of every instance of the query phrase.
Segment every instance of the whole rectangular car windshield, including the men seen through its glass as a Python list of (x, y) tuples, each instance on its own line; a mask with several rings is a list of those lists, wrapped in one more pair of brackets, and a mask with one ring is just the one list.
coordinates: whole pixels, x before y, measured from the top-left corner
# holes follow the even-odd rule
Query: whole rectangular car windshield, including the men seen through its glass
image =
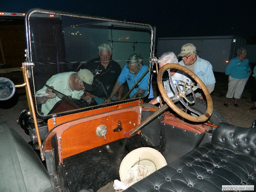
[[(34, 64), (30, 84), (39, 114), (148, 97), (150, 25), (32, 10), (26, 26), (28, 61)], [(120, 87), (114, 90), (116, 82)]]

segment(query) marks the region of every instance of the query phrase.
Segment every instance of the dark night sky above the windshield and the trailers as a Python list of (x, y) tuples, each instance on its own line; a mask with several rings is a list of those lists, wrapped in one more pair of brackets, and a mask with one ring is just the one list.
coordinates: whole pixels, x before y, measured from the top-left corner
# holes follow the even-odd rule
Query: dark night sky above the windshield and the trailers
[(157, 37), (256, 35), (256, 0), (0, 0), (0, 12), (30, 8), (146, 22)]

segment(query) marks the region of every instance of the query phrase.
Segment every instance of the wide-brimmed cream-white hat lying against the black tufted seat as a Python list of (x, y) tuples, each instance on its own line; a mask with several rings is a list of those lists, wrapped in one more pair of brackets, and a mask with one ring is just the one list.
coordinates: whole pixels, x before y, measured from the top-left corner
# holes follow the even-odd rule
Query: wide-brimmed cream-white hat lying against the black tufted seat
[(164, 156), (157, 150), (150, 147), (141, 147), (128, 153), (121, 162), (119, 175), (121, 182), (124, 182), (128, 170), (135, 165), (144, 165), (148, 169), (147, 175), (167, 165)]

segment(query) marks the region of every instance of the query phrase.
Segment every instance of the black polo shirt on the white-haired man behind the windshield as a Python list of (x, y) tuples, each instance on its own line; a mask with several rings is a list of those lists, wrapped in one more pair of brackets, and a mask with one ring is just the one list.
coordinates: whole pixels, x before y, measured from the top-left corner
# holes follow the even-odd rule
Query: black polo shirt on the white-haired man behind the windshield
[(88, 69), (92, 72), (94, 80), (91, 93), (101, 98), (110, 96), (116, 80), (122, 71), (120, 65), (113, 60), (108, 63), (105, 69), (100, 63), (100, 58), (95, 58), (86, 64), (82, 64), (80, 68)]

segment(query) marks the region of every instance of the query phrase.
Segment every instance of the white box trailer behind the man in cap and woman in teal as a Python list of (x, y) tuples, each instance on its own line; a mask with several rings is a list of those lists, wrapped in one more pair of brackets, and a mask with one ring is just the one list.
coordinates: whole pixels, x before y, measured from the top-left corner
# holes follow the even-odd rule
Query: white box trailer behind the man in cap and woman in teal
[(246, 39), (239, 36), (166, 37), (157, 40), (157, 57), (164, 52), (180, 53), (182, 45), (192, 43), (198, 56), (212, 64), (214, 72), (225, 72), (228, 62), (236, 56), (236, 50), (244, 47)]

